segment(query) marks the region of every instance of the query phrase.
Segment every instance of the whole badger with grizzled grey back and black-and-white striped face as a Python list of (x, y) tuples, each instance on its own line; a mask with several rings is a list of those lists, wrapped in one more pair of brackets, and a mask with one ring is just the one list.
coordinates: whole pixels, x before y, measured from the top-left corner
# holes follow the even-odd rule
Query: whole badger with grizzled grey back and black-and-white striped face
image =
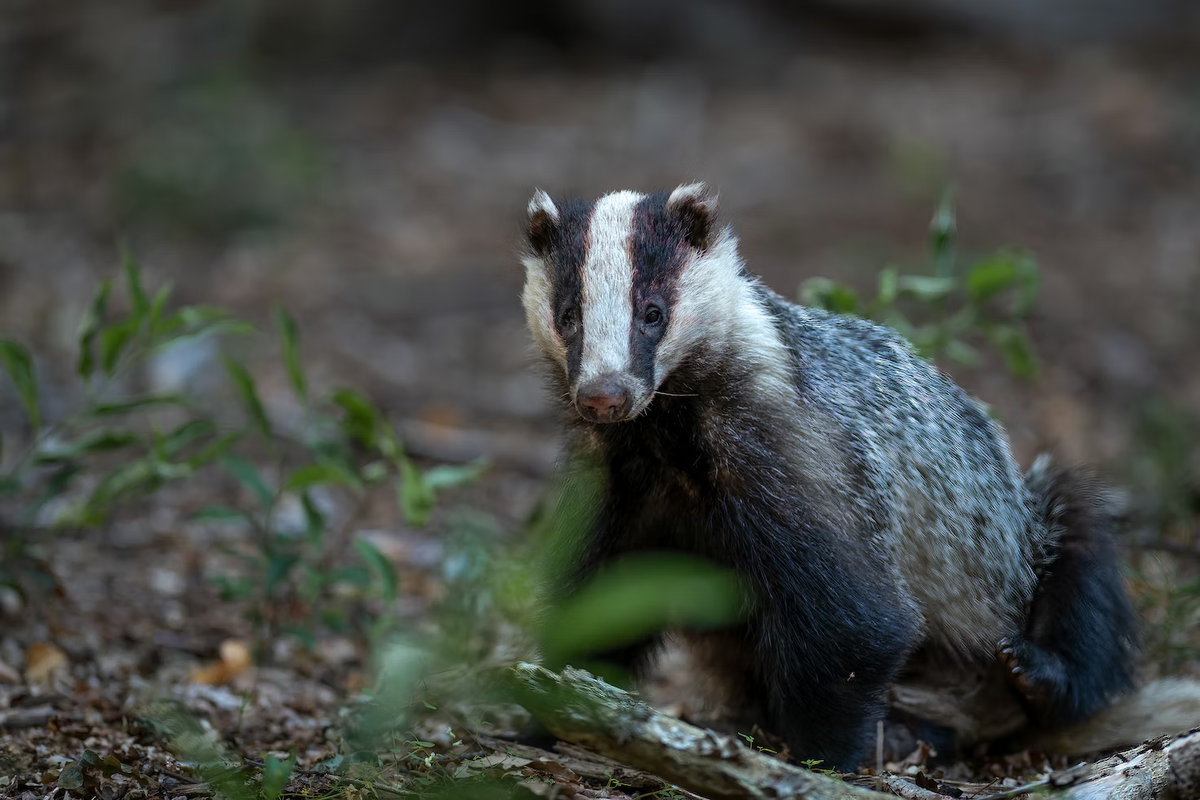
[[(1130, 686), (1134, 614), (1099, 489), (1021, 474), (1002, 428), (894, 331), (787, 302), (703, 185), (529, 204), (523, 303), (602, 493), (562, 597), (643, 551), (725, 565), (712, 682), (800, 758), (852, 768), (906, 664), (998, 664), (1032, 718)], [(644, 666), (654, 642), (608, 657)], [(914, 658), (914, 654), (920, 654)]]

